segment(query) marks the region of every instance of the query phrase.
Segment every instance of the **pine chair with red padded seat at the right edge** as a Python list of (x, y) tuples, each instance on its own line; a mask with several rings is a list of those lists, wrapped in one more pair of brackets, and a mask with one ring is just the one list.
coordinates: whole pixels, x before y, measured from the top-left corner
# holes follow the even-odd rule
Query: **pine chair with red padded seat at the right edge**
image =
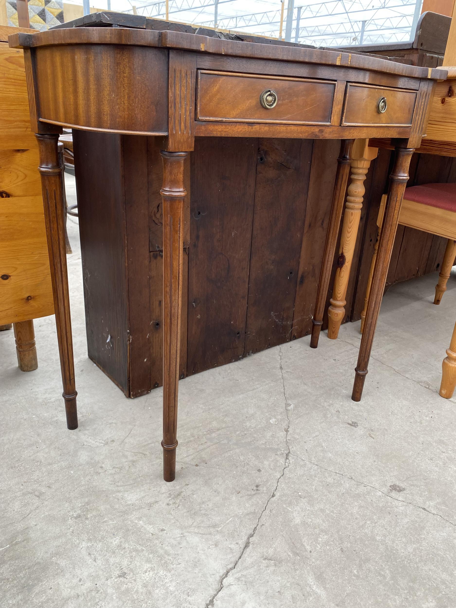
[[(379, 227), (378, 236), (370, 263), (364, 309), (361, 313), (361, 333), (364, 328), (364, 318), (375, 266), (385, 202), (386, 195), (383, 195), (377, 218), (377, 226)], [(434, 304), (440, 304), (442, 296), (446, 291), (446, 283), (456, 257), (456, 184), (423, 184), (421, 186), (406, 188), (404, 199), (402, 199), (401, 211), (399, 212), (399, 224), (417, 230), (424, 230), (448, 239), (440, 274), (438, 275), (438, 283), (435, 286)], [(451, 337), (450, 347), (446, 351), (446, 354), (447, 356), (442, 363), (440, 395), (449, 399), (456, 387), (456, 325)]]

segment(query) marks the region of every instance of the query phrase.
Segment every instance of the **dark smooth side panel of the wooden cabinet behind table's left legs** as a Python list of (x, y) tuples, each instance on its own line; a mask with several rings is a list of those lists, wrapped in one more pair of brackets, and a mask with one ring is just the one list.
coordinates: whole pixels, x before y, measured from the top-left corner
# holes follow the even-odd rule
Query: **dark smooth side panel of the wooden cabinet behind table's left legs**
[(128, 395), (121, 139), (73, 131), (88, 355)]

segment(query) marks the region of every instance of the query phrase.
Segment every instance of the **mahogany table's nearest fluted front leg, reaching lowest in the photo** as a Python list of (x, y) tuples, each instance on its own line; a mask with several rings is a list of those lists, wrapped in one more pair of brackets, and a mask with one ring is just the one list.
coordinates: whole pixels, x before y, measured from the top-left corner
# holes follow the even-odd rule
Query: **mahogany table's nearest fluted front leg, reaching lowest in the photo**
[(179, 344), (184, 255), (184, 161), (187, 152), (161, 151), (163, 159), (163, 478), (176, 477)]

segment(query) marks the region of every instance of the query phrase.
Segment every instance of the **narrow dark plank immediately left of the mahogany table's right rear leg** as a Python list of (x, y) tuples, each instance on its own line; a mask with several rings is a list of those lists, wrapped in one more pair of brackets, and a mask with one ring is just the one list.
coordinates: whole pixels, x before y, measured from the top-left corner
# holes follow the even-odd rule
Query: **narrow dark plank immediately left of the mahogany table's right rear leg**
[(339, 150), (339, 140), (314, 141), (292, 339), (306, 336), (312, 330)]

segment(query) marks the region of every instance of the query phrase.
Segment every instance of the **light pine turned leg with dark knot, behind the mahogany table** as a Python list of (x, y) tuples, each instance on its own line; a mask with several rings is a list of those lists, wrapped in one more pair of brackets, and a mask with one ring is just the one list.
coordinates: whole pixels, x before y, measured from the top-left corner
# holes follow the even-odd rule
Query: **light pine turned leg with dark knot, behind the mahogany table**
[(335, 340), (339, 334), (340, 323), (345, 317), (345, 296), (350, 278), (351, 261), (353, 260), (356, 235), (358, 235), (364, 198), (364, 180), (370, 163), (376, 158), (378, 148), (369, 148), (368, 139), (357, 139), (354, 142), (351, 159), (350, 185), (345, 203), (344, 223), (340, 237), (339, 260), (337, 261), (336, 278), (334, 279), (333, 297), (328, 308), (328, 338)]

